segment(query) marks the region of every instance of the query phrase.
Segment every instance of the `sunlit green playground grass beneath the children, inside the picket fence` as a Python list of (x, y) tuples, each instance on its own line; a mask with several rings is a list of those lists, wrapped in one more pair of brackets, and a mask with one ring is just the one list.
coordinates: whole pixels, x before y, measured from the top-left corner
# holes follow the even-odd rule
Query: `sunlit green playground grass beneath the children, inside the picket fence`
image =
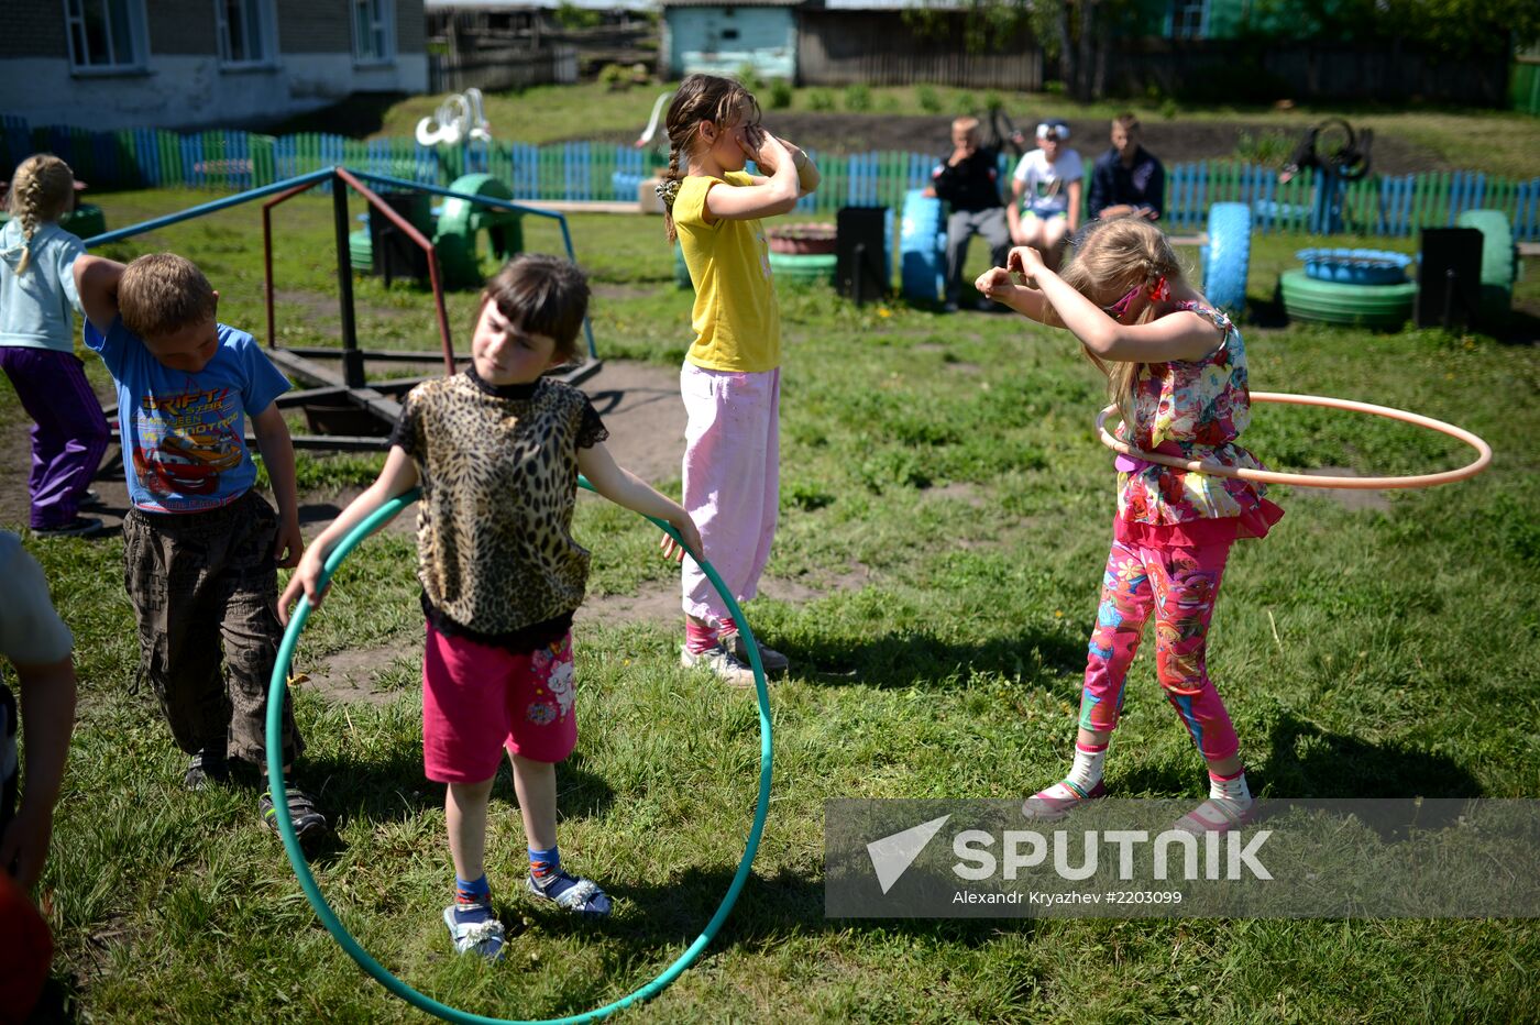
[[(202, 197), (106, 197), (114, 225)], [(126, 243), (203, 265), (222, 319), (259, 325), (256, 214), (229, 211)], [(336, 336), (320, 200), (279, 219), (280, 337)], [(605, 359), (678, 363), (688, 297), (658, 220), (573, 219), (599, 285)], [(1254, 300), (1304, 239), (1258, 242)], [(533, 237), (531, 246), (551, 240)], [(981, 266), (981, 246), (975, 263)], [(1540, 292), (1534, 265), (1520, 295)], [(359, 282), (367, 345), (436, 340), (422, 292)], [(460, 345), (471, 295), (456, 295)], [(768, 828), (742, 899), (702, 962), (639, 1017), (924, 1022), (1529, 1022), (1540, 931), (1528, 920), (852, 922), (822, 916), (822, 802), (1016, 797), (1064, 770), (1112, 516), (1090, 432), (1101, 382), (1063, 334), (1012, 317), (852, 308), (784, 291), (782, 526), (755, 629), (796, 674), (776, 685)], [(1540, 617), (1540, 359), (1532, 345), (1440, 332), (1247, 326), (1252, 385), (1401, 405), (1489, 439), (1461, 485), (1352, 509), (1274, 491), (1287, 517), (1226, 574), (1210, 669), (1254, 788), (1278, 797), (1540, 793), (1534, 646)], [(89, 372), (100, 380), (100, 363)], [(0, 426), (23, 414), (0, 385)], [(1278, 468), (1454, 466), (1457, 443), (1348, 414), (1258, 406), (1247, 443)], [(365, 482), (370, 459), (300, 456), (308, 482)], [(20, 488), (22, 482), (12, 482)], [(665, 482), (678, 486), (678, 482)], [(18, 525), (11, 523), (11, 528)], [(593, 591), (665, 585), (639, 519), (585, 497)], [(316, 922), (256, 793), (182, 791), (185, 759), (132, 686), (120, 542), (28, 548), (77, 639), (80, 723), (43, 879), (55, 974), (97, 1022), (422, 1020), (367, 980)], [(343, 568), (299, 668), (407, 648), (420, 633), (410, 540), (382, 536)], [(570, 865), (618, 899), (576, 928), (517, 896), (522, 831), (504, 777), (490, 876), (513, 934), (488, 968), (448, 954), (442, 796), (422, 779), (416, 673), (382, 657), (374, 705), (300, 689), (303, 779), (337, 817), (313, 863), (365, 947), (411, 985), (482, 1014), (587, 1010), (651, 979), (727, 890), (755, 799), (752, 697), (676, 668), (678, 625), (581, 631), (582, 733), (559, 771)], [(1497, 709), (1495, 713), (1492, 709)], [(1109, 782), (1121, 796), (1203, 794), (1201, 762), (1146, 653)]]

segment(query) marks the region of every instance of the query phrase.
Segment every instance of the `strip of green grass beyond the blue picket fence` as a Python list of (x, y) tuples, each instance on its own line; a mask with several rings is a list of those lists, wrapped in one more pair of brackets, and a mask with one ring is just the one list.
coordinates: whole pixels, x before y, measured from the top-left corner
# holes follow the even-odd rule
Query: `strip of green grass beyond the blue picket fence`
[[(485, 100), (487, 120), (493, 134), (507, 142), (547, 143), (564, 139), (631, 140), (642, 132), (653, 100), (675, 83), (636, 86), (610, 91), (598, 83), (576, 86), (533, 86), (519, 92), (491, 94)], [(1278, 131), (1292, 140), (1324, 117), (1348, 117), (1355, 128), (1371, 128), (1380, 139), (1403, 139), (1431, 149), (1441, 166), (1485, 171), (1528, 179), (1535, 174), (1535, 119), (1512, 111), (1388, 108), (1388, 106), (1297, 106), (1280, 111), (1272, 106), (1246, 105), (1184, 105), (1175, 102), (1107, 100), (1089, 105), (1072, 103), (1058, 94), (998, 92), (989, 89), (956, 89), (947, 86), (872, 86), (865, 111), (873, 117), (924, 115), (938, 120), (958, 114), (983, 114), (990, 103), (1001, 109), (1023, 131), (1030, 131), (1044, 117), (1080, 122), (1107, 122), (1132, 109), (1146, 125), (1170, 122), (1244, 120), (1261, 126), (1263, 132)], [(762, 89), (765, 123), (775, 125), (781, 111), (770, 108), (770, 89)], [(929, 102), (922, 102), (922, 97)], [(847, 109), (847, 94), (833, 89), (799, 88), (792, 91), (788, 111), (810, 112)], [(416, 95), (394, 103), (382, 114), (374, 135), (411, 137), (417, 122), (437, 109), (442, 97)], [(313, 128), (314, 131), (316, 128)], [(938, 129), (938, 137), (944, 132)], [(932, 145), (932, 143), (926, 143)], [(1076, 143), (1092, 152), (1104, 145), (1083, 135)], [(1086, 149), (1090, 146), (1092, 149)], [(1177, 159), (1167, 155), (1167, 159)]]

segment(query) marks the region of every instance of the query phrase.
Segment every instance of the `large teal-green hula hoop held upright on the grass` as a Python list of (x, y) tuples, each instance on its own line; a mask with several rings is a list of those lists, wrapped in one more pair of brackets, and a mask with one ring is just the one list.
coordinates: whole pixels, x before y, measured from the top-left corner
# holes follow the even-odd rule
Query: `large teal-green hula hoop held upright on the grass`
[[(593, 485), (584, 477), (578, 479), (578, 483), (590, 491)], [(359, 543), (396, 517), (402, 509), (417, 500), (420, 496), (419, 489), (410, 491), (399, 499), (391, 499), (383, 506), (374, 511), (367, 520), (359, 523), (353, 531), (342, 539), (337, 548), (326, 559), (326, 565), (322, 569), (320, 583), (322, 586), (331, 582), (331, 576), (342, 565), (342, 560), (348, 557)], [(647, 517), (673, 537), (681, 545), (684, 540), (673, 526)], [(521, 1020), (521, 1019), (505, 1019), (505, 1017), (485, 1017), (482, 1014), (471, 1014), (468, 1011), (460, 1011), (459, 1008), (440, 1003), (433, 997), (417, 993), (405, 982), (393, 976), (383, 965), (374, 960), (368, 951), (365, 951), (353, 934), (342, 925), (331, 905), (320, 894), (320, 888), (316, 885), (316, 877), (310, 871), (310, 863), (305, 860), (305, 853), (300, 850), (299, 839), (294, 836), (294, 820), (288, 813), (288, 794), (283, 790), (283, 748), (282, 748), (282, 720), (283, 720), (283, 697), (288, 688), (288, 669), (294, 659), (294, 646), (299, 643), (299, 636), (305, 629), (305, 620), (310, 619), (311, 605), (310, 600), (300, 597), (299, 603), (294, 606), (294, 616), (290, 619), (288, 629), (283, 633), (283, 642), (279, 645), (277, 665), (273, 668), (273, 683), (268, 688), (268, 780), (273, 788), (273, 810), (277, 813), (279, 834), (283, 837), (283, 851), (288, 854), (290, 865), (294, 868), (294, 876), (299, 879), (300, 888), (305, 891), (305, 897), (310, 900), (310, 906), (316, 910), (316, 917), (320, 919), (326, 931), (331, 933), (333, 939), (348, 953), (353, 960), (359, 963), (363, 971), (374, 976), (374, 979), (383, 985), (387, 990), (407, 1000), (413, 1007), (427, 1011), (436, 1017), (447, 1022), (465, 1022), (468, 1025), (576, 1025), (578, 1022), (594, 1022), (602, 1017), (619, 1011), (621, 1008), (631, 1007), (633, 1003), (641, 1003), (650, 1000), (664, 988), (668, 987), (675, 979), (678, 979), (685, 968), (688, 968), (705, 950), (707, 943), (716, 936), (716, 931), (722, 928), (727, 920), (728, 913), (733, 910), (733, 903), (738, 902), (739, 893), (744, 890), (744, 883), (748, 882), (748, 873), (753, 866), (755, 854), (759, 851), (759, 837), (764, 834), (765, 816), (770, 811), (770, 693), (765, 688), (764, 665), (759, 662), (759, 649), (755, 643), (753, 631), (748, 628), (748, 620), (744, 617), (738, 602), (733, 600), (732, 593), (722, 583), (722, 579), (716, 574), (711, 563), (705, 562), (695, 553), (690, 553), (701, 569), (705, 571), (707, 579), (716, 593), (725, 602), (733, 622), (738, 628), (744, 631), (744, 637), (748, 640), (748, 660), (755, 671), (755, 689), (759, 694), (759, 800), (755, 805), (755, 823), (748, 830), (748, 843), (744, 848), (744, 857), (738, 862), (738, 874), (733, 876), (732, 885), (727, 888), (727, 896), (722, 897), (722, 903), (718, 905), (716, 914), (707, 922), (705, 928), (695, 939), (693, 943), (668, 965), (662, 974), (633, 991), (631, 994), (621, 997), (613, 1003), (605, 1003), (601, 1008), (594, 1008), (584, 1014), (574, 1014), (570, 1017), (551, 1017), (537, 1020)]]

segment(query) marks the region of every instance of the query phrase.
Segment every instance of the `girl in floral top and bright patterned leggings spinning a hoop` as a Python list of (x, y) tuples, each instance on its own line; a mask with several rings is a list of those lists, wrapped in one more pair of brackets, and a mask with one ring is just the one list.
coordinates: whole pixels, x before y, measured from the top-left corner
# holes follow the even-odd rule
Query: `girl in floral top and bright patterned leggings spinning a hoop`
[[(1018, 285), (1012, 272), (1026, 280)], [(1069, 328), (1107, 374), (1123, 412), (1118, 437), (1143, 451), (1260, 468), (1237, 445), (1250, 420), (1240, 331), (1181, 275), (1170, 243), (1150, 223), (1104, 222), (1081, 242), (1063, 275), (1036, 249), (1010, 251), (1006, 268), (978, 279), (984, 295)], [(1106, 794), (1103, 762), (1123, 708), (1140, 636), (1155, 617), (1155, 671), (1209, 763), (1209, 800), (1184, 816), (1194, 833), (1244, 823), (1252, 797), (1240, 743), (1209, 680), (1204, 648), (1230, 545), (1261, 537), (1283, 516), (1261, 485), (1172, 469), (1120, 456), (1118, 516), (1090, 634), (1075, 762), (1058, 783), (1027, 799), (1035, 819), (1061, 819)]]

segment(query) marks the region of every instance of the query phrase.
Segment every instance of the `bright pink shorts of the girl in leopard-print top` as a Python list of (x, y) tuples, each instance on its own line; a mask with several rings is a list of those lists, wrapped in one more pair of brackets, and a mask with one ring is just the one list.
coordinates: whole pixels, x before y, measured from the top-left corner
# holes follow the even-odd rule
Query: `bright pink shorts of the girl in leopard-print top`
[(513, 654), (428, 625), (422, 656), (422, 762), (439, 783), (480, 783), (502, 750), (561, 762), (578, 745), (573, 637)]

